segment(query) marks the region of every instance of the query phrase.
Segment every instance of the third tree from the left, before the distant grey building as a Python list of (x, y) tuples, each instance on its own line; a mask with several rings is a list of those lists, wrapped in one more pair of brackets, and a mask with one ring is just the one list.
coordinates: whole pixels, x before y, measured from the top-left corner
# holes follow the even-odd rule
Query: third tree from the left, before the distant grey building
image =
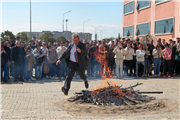
[(43, 35), (41, 35), (40, 39), (51, 43), (54, 43), (55, 41), (54, 35), (51, 32), (44, 33)]

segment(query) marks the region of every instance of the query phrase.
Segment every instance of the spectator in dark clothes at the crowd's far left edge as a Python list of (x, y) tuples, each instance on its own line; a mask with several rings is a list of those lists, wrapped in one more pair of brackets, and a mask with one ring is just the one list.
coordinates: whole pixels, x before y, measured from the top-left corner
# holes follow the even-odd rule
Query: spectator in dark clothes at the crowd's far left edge
[(6, 51), (3, 46), (0, 45), (0, 82), (2, 81), (2, 69), (4, 70), (4, 82), (7, 82), (7, 62), (6, 62)]

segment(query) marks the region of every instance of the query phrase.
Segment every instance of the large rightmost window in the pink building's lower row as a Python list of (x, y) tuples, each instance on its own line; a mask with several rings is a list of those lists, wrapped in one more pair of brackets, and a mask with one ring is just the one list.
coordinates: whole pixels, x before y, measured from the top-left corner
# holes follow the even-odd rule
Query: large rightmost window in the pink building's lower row
[(155, 34), (173, 33), (174, 18), (158, 20), (155, 22)]

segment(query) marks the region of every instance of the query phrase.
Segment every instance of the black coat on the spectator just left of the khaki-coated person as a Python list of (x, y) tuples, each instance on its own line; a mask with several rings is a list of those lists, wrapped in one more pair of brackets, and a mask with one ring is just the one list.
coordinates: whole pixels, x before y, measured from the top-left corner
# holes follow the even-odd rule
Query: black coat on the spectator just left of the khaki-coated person
[(18, 49), (17, 46), (14, 46), (12, 48), (11, 56), (12, 56), (12, 61), (14, 61), (14, 63), (24, 64), (24, 58), (26, 56), (26, 52), (23, 47), (19, 47)]

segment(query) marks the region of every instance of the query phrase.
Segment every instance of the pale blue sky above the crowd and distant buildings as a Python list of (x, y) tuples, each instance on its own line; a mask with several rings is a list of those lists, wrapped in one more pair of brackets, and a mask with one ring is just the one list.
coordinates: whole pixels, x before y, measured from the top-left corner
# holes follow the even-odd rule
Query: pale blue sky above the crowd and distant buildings
[[(30, 0), (0, 0), (0, 32), (30, 31)], [(63, 13), (68, 31), (92, 33), (98, 39), (122, 35), (123, 0), (31, 0), (32, 32), (62, 31)], [(66, 22), (64, 22), (66, 30)], [(101, 30), (102, 38), (101, 38)]]

